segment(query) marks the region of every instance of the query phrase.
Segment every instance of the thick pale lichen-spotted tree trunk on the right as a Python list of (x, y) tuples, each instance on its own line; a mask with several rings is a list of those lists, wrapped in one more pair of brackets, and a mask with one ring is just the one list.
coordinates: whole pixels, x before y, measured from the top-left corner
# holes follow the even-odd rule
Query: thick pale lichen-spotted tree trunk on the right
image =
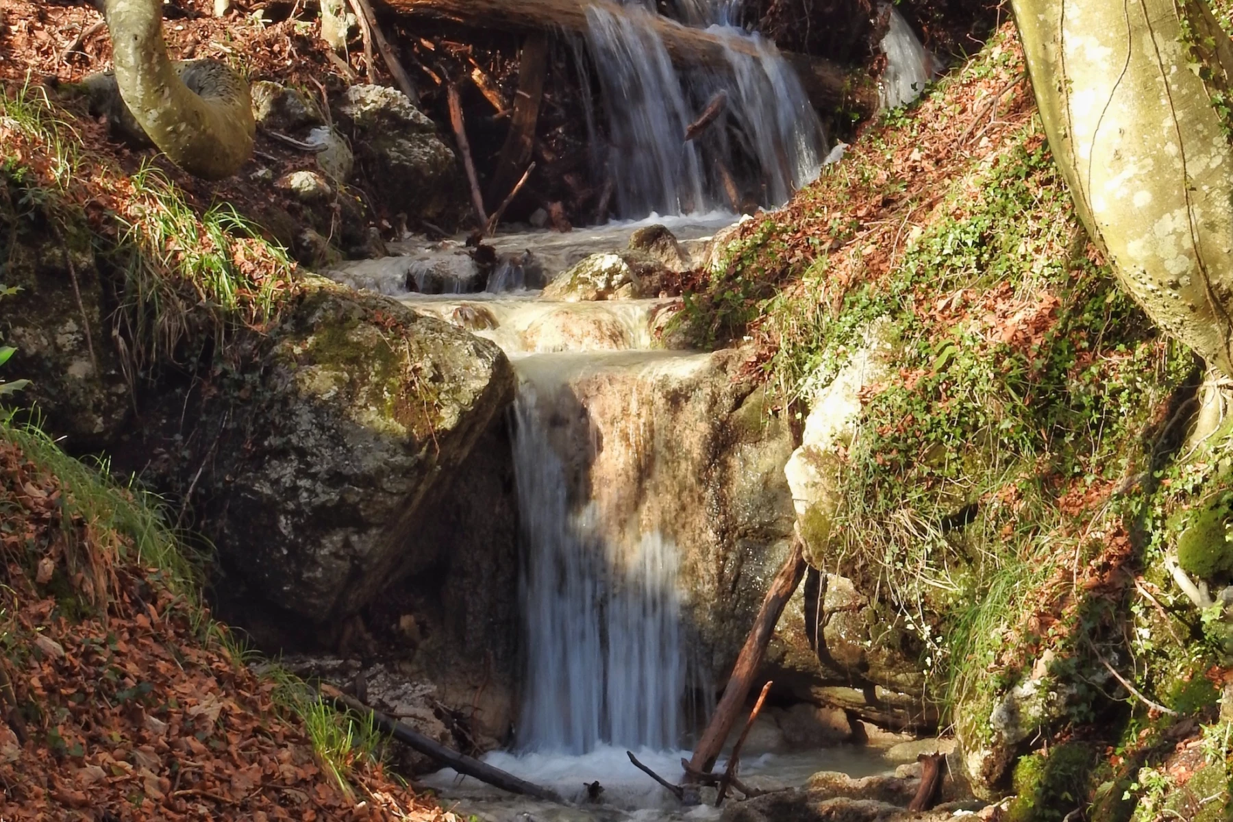
[(1200, 0), (1012, 5), (1089, 233), (1153, 320), (1233, 376), (1233, 43)]

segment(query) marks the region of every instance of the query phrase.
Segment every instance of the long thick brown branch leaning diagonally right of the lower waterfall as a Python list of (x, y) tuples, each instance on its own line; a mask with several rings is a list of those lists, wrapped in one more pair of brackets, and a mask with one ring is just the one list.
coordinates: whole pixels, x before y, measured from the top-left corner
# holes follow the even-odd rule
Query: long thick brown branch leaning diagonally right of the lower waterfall
[(753, 686), (753, 678), (757, 675), (758, 665), (766, 654), (767, 643), (774, 633), (774, 626), (779, 622), (784, 606), (805, 576), (804, 542), (800, 534), (797, 534), (792, 543), (792, 553), (784, 560), (783, 566), (771, 582), (767, 595), (762, 600), (762, 608), (753, 621), (753, 629), (745, 640), (732, 668), (732, 675), (727, 679), (724, 695), (715, 706), (715, 715), (711, 716), (710, 725), (703, 733), (698, 747), (694, 748), (689, 767), (694, 771), (708, 771), (715, 767), (715, 758), (727, 739), (727, 733), (732, 730), (736, 717), (745, 704), (745, 699)]

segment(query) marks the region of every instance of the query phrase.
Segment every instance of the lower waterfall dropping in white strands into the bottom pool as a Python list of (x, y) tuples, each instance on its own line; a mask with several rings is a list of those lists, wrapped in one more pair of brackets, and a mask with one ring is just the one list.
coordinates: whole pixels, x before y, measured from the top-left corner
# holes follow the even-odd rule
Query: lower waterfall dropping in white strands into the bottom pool
[[(587, 472), (598, 446), (591, 421), (562, 382), (561, 366), (536, 373), (528, 366), (534, 359), (519, 366), (514, 404), (526, 546), (519, 747), (572, 754), (604, 743), (673, 747), (686, 690), (676, 547), (653, 527), (623, 521), (613, 510), (620, 505), (593, 498)], [(629, 426), (626, 439), (637, 440), (636, 396), (630, 403), (621, 425)]]

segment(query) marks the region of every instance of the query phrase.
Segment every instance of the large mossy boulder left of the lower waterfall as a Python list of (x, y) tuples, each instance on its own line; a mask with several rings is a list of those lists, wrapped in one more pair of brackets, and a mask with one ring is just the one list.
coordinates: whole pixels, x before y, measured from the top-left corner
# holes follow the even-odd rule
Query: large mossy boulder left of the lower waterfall
[(234, 381), (164, 392), (148, 428), (176, 445), (163, 470), (197, 490), (224, 611), (342, 626), (439, 563), (448, 547), (422, 540), (434, 490), (510, 401), (513, 371), (487, 340), (321, 277), (253, 345)]

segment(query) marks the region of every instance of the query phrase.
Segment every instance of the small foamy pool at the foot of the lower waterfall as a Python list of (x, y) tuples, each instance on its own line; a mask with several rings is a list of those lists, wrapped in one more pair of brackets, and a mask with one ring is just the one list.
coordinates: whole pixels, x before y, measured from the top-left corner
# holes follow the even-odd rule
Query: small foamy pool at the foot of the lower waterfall
[[(635, 751), (641, 763), (670, 781), (679, 781), (681, 759), (688, 751)], [(488, 764), (520, 776), (526, 781), (551, 787), (577, 807), (560, 807), (538, 800), (510, 796), (453, 769), (432, 774), (420, 785), (436, 791), (446, 810), (466, 818), (476, 816), (483, 822), (619, 822), (637, 820), (714, 820), (721, 808), (704, 801), (698, 807), (681, 807), (676, 797), (635, 768), (624, 748), (604, 746), (581, 755), (560, 753), (493, 752), (483, 758)], [(763, 753), (741, 760), (740, 778), (751, 787), (773, 790), (799, 787), (820, 770), (836, 770), (853, 778), (889, 774), (895, 769), (878, 748), (840, 746), (793, 753)], [(723, 760), (715, 767), (721, 770)], [(603, 785), (600, 804), (586, 802), (584, 784), (598, 780)], [(714, 796), (714, 791), (710, 791)], [(707, 795), (704, 794), (704, 800)], [(529, 816), (528, 816), (529, 815)]]

